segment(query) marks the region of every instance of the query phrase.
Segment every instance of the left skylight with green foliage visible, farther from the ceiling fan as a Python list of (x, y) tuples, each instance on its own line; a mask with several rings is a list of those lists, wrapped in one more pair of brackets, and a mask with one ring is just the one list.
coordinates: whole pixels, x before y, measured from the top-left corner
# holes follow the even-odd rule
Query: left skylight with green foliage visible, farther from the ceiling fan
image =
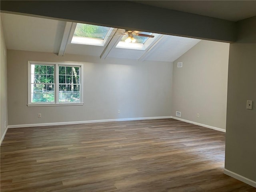
[(78, 23), (71, 43), (104, 46), (112, 30), (110, 27)]

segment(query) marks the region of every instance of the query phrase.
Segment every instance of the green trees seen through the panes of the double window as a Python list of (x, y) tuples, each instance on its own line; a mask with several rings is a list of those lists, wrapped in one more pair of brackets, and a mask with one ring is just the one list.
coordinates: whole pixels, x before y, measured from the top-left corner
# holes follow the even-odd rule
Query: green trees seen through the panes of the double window
[[(32, 102), (54, 102), (54, 66), (34, 65)], [(80, 101), (80, 68), (59, 66), (59, 102)], [(33, 71), (32, 71), (33, 74)]]

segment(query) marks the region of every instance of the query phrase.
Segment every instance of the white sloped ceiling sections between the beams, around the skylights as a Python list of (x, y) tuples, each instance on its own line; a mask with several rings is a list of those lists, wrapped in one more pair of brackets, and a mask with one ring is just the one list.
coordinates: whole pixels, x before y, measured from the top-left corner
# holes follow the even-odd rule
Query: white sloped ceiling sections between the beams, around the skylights
[[(1, 13), (7, 49), (36, 52), (59, 53), (61, 43), (65, 42), (66, 22), (45, 18), (36, 18), (16, 14)], [(70, 35), (72, 36), (72, 34)], [(67, 42), (68, 39), (66, 39)], [(116, 38), (105, 46), (66, 44), (65, 54), (82, 54), (112, 58), (153, 60), (172, 62), (196, 45), (200, 40), (178, 36), (163, 35), (148, 50), (116, 48)]]

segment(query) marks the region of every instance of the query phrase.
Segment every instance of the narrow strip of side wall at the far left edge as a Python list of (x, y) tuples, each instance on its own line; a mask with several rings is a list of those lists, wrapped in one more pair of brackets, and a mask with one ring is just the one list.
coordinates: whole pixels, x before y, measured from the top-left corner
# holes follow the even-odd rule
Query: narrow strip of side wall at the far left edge
[[(7, 116), (7, 49), (4, 41), (4, 32), (2, 29), (2, 20), (0, 19), (0, 138), (4, 136), (4, 132), (8, 125)], [(6, 56), (4, 56), (4, 51)], [(6, 127), (5, 127), (6, 122)]]

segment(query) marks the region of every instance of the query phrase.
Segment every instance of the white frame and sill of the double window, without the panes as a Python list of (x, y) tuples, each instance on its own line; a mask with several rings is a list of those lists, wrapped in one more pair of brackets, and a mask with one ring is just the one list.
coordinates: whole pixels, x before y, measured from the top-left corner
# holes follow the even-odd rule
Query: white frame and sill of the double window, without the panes
[[(31, 65), (54, 65), (54, 102), (34, 102), (31, 98)], [(59, 66), (79, 66), (80, 67), (80, 102), (61, 102), (59, 103)], [(83, 103), (83, 64), (81, 63), (60, 63), (60, 62), (40, 62), (28, 61), (28, 107), (31, 106), (72, 106), (84, 105)]]

